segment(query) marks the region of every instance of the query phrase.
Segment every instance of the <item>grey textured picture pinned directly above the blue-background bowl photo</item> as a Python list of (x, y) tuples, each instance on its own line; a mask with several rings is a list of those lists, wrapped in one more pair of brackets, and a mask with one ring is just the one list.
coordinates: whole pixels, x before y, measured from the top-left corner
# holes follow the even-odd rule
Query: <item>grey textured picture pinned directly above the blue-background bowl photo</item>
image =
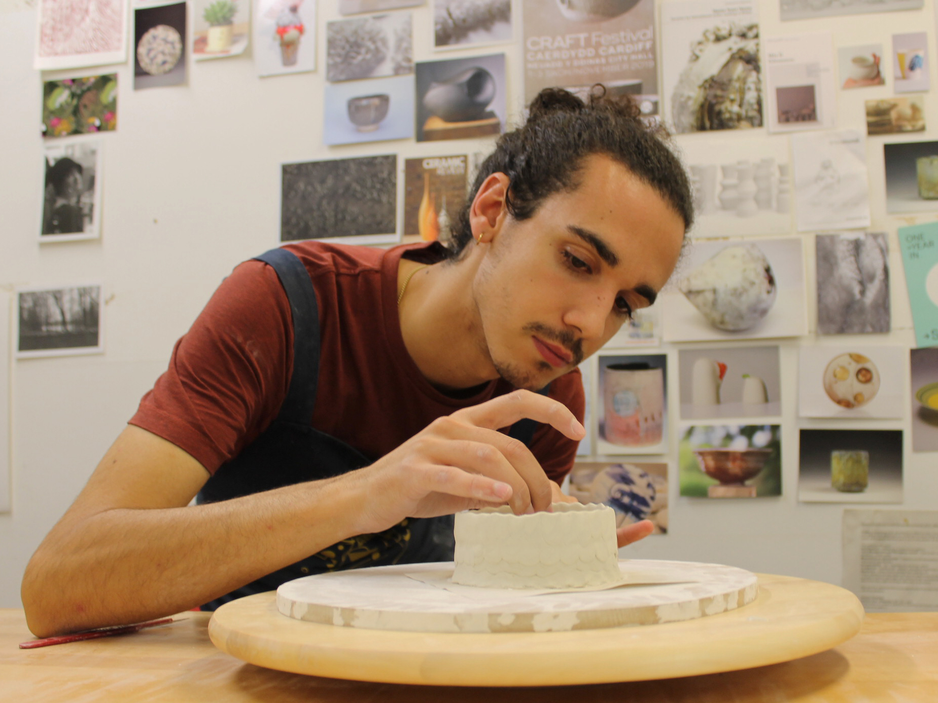
[(327, 81), (357, 81), (414, 72), (411, 13), (325, 23)]

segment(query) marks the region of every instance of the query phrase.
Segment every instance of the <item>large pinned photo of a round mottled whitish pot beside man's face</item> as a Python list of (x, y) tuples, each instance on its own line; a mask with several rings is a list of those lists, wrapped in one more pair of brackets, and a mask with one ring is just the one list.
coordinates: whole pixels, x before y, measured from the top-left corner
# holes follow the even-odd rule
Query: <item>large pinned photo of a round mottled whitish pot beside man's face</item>
[(668, 342), (808, 332), (801, 239), (695, 240), (662, 291)]

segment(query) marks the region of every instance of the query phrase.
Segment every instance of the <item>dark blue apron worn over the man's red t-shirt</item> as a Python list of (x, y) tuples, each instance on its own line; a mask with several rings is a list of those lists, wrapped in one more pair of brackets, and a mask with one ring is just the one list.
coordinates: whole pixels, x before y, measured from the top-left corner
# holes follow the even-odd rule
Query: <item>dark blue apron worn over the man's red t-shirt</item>
[[(273, 267), (293, 315), (294, 368), (277, 418), (231, 461), (222, 464), (196, 496), (197, 503), (228, 501), (265, 490), (318, 481), (368, 466), (374, 458), (310, 426), (319, 376), (319, 309), (306, 266), (287, 249), (256, 257)], [(540, 392), (546, 393), (545, 387)], [(529, 445), (537, 422), (521, 420), (508, 435)], [(311, 574), (396, 563), (452, 561), (453, 516), (407, 517), (394, 527), (362, 534), (328, 546), (317, 554), (262, 576), (206, 603), (215, 610), (253, 593)]]

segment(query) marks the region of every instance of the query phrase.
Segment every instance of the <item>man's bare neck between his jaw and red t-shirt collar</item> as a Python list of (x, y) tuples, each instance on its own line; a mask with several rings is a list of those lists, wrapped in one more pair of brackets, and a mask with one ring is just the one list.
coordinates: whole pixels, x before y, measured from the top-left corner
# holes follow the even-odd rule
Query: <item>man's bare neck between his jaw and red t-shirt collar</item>
[(399, 291), (410, 277), (398, 306), (404, 347), (424, 377), (445, 393), (498, 378), (472, 296), (474, 259), (440, 262), (416, 273), (419, 263), (401, 259), (398, 264)]

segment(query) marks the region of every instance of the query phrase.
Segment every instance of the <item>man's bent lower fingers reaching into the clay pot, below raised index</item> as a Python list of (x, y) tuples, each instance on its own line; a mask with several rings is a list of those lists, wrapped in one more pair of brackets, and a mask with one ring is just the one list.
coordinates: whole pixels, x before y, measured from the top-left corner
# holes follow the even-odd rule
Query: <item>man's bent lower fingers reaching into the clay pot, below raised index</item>
[(432, 428), (433, 437), (458, 446), (439, 447), (434, 461), (484, 473), (511, 484), (514, 493), (510, 505), (516, 515), (527, 512), (529, 507), (536, 511), (550, 509), (552, 482), (522, 441), (487, 427), (462, 423), (451, 416), (435, 421)]

